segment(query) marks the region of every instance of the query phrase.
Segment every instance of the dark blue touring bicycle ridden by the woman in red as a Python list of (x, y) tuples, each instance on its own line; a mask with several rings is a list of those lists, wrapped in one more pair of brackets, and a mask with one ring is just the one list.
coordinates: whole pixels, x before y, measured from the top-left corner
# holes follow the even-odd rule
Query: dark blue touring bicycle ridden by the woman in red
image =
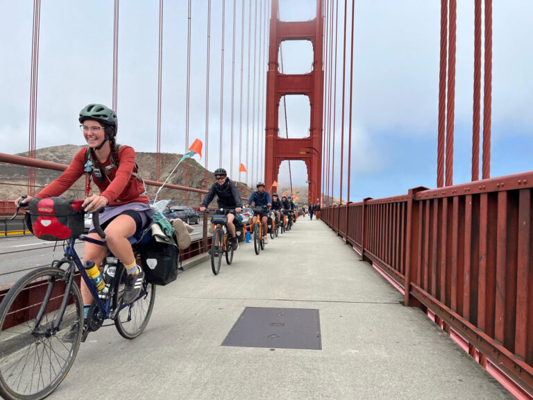
[[(83, 200), (76, 201), (73, 208), (82, 211)], [(18, 211), (19, 207), (13, 217)], [(99, 213), (93, 213), (92, 221), (104, 239)], [(112, 277), (105, 285), (108, 292), (99, 292), (76, 253), (76, 239), (105, 246), (105, 242), (83, 234), (69, 238), (61, 260), (28, 272), (12, 286), (0, 305), (0, 394), (5, 399), (42, 399), (51, 394), (67, 376), (88, 333), (112, 325), (103, 325), (105, 319), (112, 319), (126, 339), (137, 338), (149, 322), (155, 286), (145, 278), (137, 299), (124, 304), (126, 269), (117, 260), (115, 276), (108, 272)], [(130, 238), (130, 242), (139, 241)], [(76, 268), (94, 298), (87, 319), (83, 317), (83, 300), (74, 276)]]

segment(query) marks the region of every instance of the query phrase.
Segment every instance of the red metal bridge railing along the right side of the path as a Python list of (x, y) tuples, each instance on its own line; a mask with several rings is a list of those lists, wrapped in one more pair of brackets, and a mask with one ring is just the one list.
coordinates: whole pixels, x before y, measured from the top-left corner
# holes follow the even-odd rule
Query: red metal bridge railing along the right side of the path
[(533, 396), (533, 172), (364, 199), (321, 218), (456, 335)]

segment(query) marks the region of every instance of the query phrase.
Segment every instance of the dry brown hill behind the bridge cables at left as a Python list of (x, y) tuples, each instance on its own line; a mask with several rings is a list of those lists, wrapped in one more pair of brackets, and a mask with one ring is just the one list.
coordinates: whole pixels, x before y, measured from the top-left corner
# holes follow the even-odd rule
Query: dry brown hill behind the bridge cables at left
[[(63, 146), (45, 147), (36, 151), (38, 160), (51, 161), (53, 163), (69, 164), (83, 146), (75, 146), (73, 144), (66, 144)], [(17, 156), (27, 157), (28, 153), (19, 153)], [(160, 180), (164, 181), (171, 173), (172, 169), (180, 160), (182, 154), (176, 153), (161, 153), (161, 167)], [(139, 166), (139, 174), (144, 179), (155, 181), (155, 165), (156, 154), (137, 152), (136, 161)], [(186, 163), (188, 166), (186, 166)], [(206, 188), (214, 181), (214, 175), (205, 169), (194, 159), (189, 159), (183, 162), (169, 179), (168, 183), (174, 185), (185, 185), (185, 168), (188, 168), (188, 185), (189, 188)], [(40, 188), (60, 176), (60, 172), (51, 171), (48, 169), (35, 169), (35, 191), (38, 192)], [(204, 176), (207, 181), (204, 181)], [(206, 185), (207, 184), (207, 185)], [(237, 188), (242, 197), (248, 197), (253, 190), (248, 188), (244, 183), (236, 183)], [(28, 167), (21, 165), (12, 165), (7, 163), (0, 163), (0, 199), (16, 199), (22, 194), (26, 194), (26, 187), (28, 185)], [(85, 178), (80, 178), (71, 190), (68, 190), (65, 195), (71, 198), (83, 197), (85, 187)], [(92, 189), (96, 186), (93, 184)], [(149, 197), (153, 199), (158, 187), (146, 185)], [(163, 188), (158, 195), (158, 199), (172, 199), (173, 203), (183, 204), (187, 197), (187, 204), (190, 206), (198, 206), (200, 203), (200, 194), (194, 192), (184, 192), (182, 190), (174, 190)]]

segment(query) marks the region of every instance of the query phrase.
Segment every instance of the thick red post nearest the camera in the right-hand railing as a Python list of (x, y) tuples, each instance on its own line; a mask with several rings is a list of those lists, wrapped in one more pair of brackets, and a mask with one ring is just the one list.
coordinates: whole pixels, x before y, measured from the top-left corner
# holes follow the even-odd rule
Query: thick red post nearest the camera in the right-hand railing
[(421, 306), (421, 303), (410, 295), (412, 277), (416, 276), (420, 268), (416, 255), (418, 254), (418, 235), (420, 234), (421, 221), (418, 220), (418, 207), (420, 202), (416, 200), (416, 193), (428, 190), (423, 186), (409, 189), (407, 194), (407, 227), (405, 229), (405, 285), (404, 303), (406, 307)]

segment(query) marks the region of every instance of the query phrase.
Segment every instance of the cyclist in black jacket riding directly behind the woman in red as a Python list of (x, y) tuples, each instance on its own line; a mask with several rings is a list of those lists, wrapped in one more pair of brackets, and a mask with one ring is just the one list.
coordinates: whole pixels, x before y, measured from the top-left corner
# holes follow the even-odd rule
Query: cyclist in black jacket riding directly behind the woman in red
[[(217, 203), (220, 208), (235, 208), (235, 213), (240, 213), (242, 210), (242, 201), (239, 190), (235, 183), (230, 181), (228, 178), (228, 173), (226, 169), (219, 168), (214, 171), (214, 177), (217, 178), (217, 182), (213, 183), (208, 194), (205, 195), (200, 211), (205, 211), (205, 208), (209, 206), (209, 203), (213, 201), (214, 195), (217, 194)], [(232, 247), (234, 250), (237, 250), (239, 247), (239, 242), (235, 237), (235, 225), (233, 224), (233, 219), (235, 219), (234, 214), (228, 214), (228, 232), (232, 238)]]

